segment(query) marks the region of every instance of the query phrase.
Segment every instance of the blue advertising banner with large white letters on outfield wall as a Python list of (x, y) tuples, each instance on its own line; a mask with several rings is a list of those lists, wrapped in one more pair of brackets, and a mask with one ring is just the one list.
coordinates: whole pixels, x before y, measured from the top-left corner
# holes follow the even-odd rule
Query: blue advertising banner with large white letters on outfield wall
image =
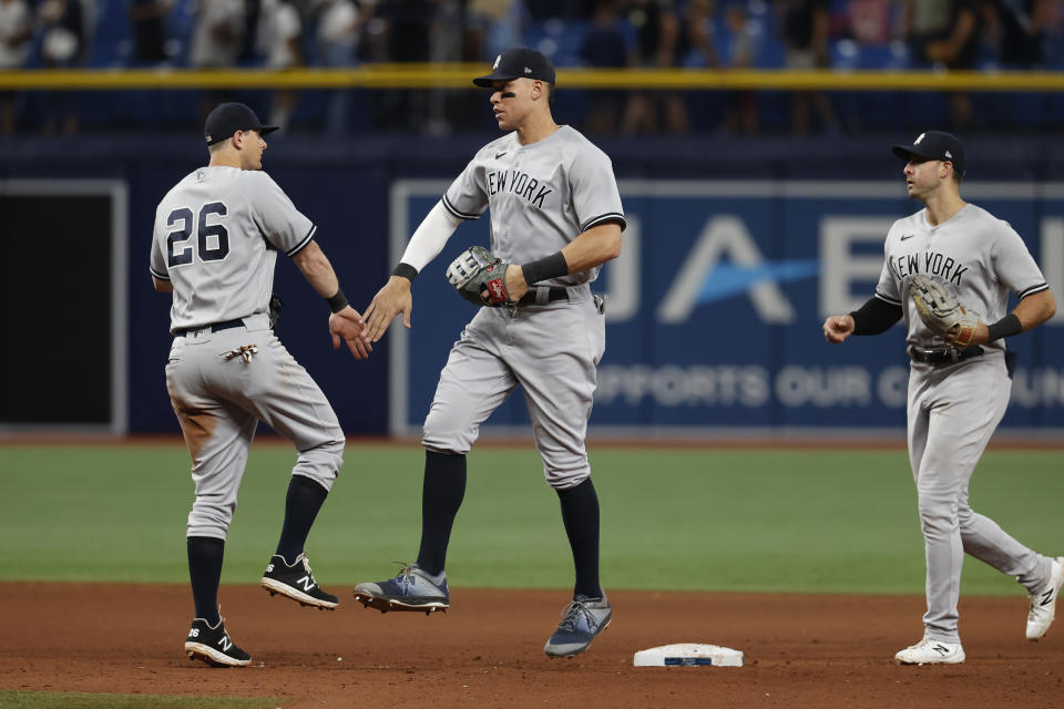
[[(392, 184), (390, 248), (447, 187)], [(920, 205), (899, 182), (621, 181), (622, 256), (593, 289), (606, 296), (606, 353), (596, 431), (686, 434), (868, 433), (904, 427), (902, 328), (828, 345), (821, 323), (873, 292), (891, 223)], [(962, 195), (1023, 236), (1053, 291), (1064, 294), (1064, 184), (965, 183)], [(392, 327), (390, 431), (420, 431), (451, 343), (474, 315), (443, 274), (462, 249), (488, 246), (488, 219), (462, 225), (415, 285), (412, 328)], [(1064, 307), (1010, 339), (1020, 353), (1014, 431), (1064, 429)], [(528, 421), (518, 392), (485, 424)]]

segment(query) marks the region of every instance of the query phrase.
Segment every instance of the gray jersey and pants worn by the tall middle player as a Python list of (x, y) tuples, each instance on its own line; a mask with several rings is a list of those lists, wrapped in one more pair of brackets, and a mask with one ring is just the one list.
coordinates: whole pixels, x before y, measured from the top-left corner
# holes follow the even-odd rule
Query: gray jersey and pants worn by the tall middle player
[[(521, 264), (543, 258), (589, 228), (624, 226), (610, 158), (575, 130), (521, 145), (510, 133), (480, 150), (443, 196), (456, 216), (491, 210), (491, 250)], [(605, 318), (591, 295), (593, 268), (533, 286), (538, 305), (481, 308), (454, 343), (424, 422), (428, 450), (467, 453), (480, 425), (521, 384), (543, 472), (567, 490), (590, 474), (584, 438)], [(549, 286), (564, 299), (549, 300)]]

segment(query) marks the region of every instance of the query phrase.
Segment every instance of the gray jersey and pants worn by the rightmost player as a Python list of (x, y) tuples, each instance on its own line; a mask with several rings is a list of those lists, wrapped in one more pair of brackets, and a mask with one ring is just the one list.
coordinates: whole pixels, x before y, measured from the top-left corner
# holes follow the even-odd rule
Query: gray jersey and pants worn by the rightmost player
[[(903, 307), (907, 343), (920, 348), (945, 342), (923, 323), (908, 296), (915, 274), (944, 284), (984, 322), (1007, 314), (1010, 290), (1023, 298), (1048, 288), (1020, 235), (972, 204), (938, 226), (928, 223), (925, 209), (899, 219), (884, 255), (876, 296)], [(909, 458), (928, 566), (923, 621), (929, 637), (948, 643), (960, 643), (956, 604), (965, 552), (1015, 577), (1030, 593), (1044, 583), (1052, 563), (969, 505), (969, 482), (1011, 391), (1004, 341), (981, 347), (983, 354), (956, 363), (914, 361), (909, 377)]]

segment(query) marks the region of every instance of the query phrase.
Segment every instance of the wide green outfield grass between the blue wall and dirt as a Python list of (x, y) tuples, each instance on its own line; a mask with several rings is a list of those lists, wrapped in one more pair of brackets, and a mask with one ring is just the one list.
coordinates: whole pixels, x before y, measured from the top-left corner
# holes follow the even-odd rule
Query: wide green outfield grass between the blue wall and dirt
[[(352, 442), (308, 553), (326, 586), (412, 562), (423, 453)], [(610, 589), (923, 593), (923, 544), (902, 451), (591, 451)], [(226, 546), (224, 584), (257, 584), (280, 530), (295, 453), (256, 444)], [(1034, 548), (1064, 553), (1060, 452), (988, 453), (976, 510)], [(0, 446), (0, 579), (186, 583), (193, 499), (184, 448)], [(572, 561), (532, 446), (469, 458), (448, 559), (453, 587), (561, 588)], [(1019, 594), (968, 559), (964, 593)]]

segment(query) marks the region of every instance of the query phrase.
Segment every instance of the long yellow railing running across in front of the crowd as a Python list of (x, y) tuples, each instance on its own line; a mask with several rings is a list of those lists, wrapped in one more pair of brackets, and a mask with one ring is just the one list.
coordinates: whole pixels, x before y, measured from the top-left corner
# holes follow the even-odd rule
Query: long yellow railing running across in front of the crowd
[[(365, 64), (351, 69), (82, 69), (0, 71), (0, 91), (144, 89), (473, 89), (484, 64)], [(719, 71), (560, 69), (560, 89), (767, 91), (1064, 91), (1064, 72)]]

